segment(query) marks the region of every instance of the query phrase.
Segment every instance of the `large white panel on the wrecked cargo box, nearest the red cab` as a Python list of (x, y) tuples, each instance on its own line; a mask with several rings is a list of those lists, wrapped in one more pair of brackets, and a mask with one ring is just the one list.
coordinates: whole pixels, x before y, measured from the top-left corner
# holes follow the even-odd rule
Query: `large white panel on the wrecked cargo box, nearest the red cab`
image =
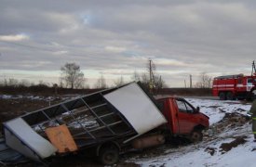
[(167, 122), (137, 83), (130, 83), (104, 96), (141, 135)]

